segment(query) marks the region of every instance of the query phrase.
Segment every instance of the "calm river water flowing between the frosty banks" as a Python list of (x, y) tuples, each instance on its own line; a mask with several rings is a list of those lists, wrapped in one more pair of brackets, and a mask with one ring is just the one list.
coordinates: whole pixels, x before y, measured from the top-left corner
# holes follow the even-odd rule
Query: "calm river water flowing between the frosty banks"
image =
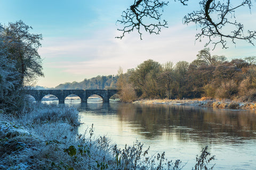
[(91, 127), (107, 135), (120, 148), (142, 142), (150, 154), (165, 151), (166, 158), (180, 159), (192, 169), (196, 155), (209, 147), (215, 155), (214, 169), (256, 169), (256, 113), (206, 107), (101, 103), (97, 98), (77, 107), (84, 123), (79, 133)]

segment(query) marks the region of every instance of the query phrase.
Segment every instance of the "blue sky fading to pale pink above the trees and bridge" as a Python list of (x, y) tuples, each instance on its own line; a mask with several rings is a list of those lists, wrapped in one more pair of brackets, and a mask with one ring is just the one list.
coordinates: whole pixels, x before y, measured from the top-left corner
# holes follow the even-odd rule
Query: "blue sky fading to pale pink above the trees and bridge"
[[(38, 78), (37, 85), (43, 87), (80, 82), (97, 75), (116, 75), (119, 67), (126, 72), (149, 59), (161, 64), (196, 59), (206, 39), (195, 41), (200, 28), (185, 25), (182, 19), (187, 13), (198, 10), (198, 3), (189, 1), (188, 6), (183, 6), (171, 0), (162, 15), (169, 28), (163, 28), (160, 35), (143, 33), (140, 40), (139, 34), (132, 32), (117, 39), (115, 37), (121, 35), (117, 29), (121, 27), (116, 21), (133, 2), (0, 0), (0, 23), (7, 25), (22, 20), (33, 27), (31, 33), (42, 33), (42, 47), (38, 52), (43, 58), (44, 77)], [(253, 5), (251, 12), (242, 8), (235, 13), (236, 19), (244, 24), (245, 32), (256, 30), (256, 3)], [(228, 47), (217, 46), (211, 54), (225, 55), (229, 61), (256, 56), (256, 47), (244, 41), (236, 45), (228, 42)]]

